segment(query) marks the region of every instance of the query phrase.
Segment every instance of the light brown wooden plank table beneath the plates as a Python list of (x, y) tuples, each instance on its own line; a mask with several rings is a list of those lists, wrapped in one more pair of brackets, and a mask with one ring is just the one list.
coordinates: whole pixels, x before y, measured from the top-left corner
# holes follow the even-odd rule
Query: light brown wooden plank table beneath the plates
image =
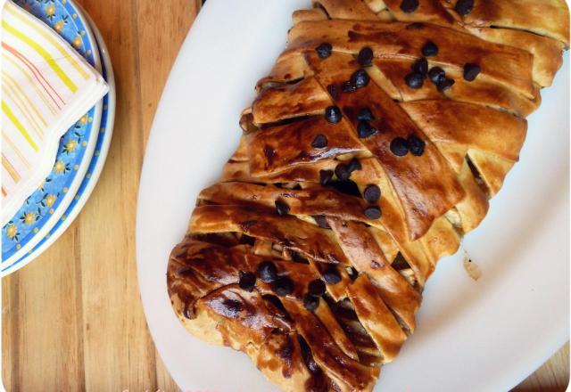
[[(117, 117), (86, 207), (37, 260), (2, 281), (10, 391), (177, 391), (153, 346), (137, 286), (135, 211), (162, 86), (200, 1), (76, 0), (111, 53)], [(220, 1), (220, 0), (218, 0)], [(564, 390), (568, 344), (519, 390)]]

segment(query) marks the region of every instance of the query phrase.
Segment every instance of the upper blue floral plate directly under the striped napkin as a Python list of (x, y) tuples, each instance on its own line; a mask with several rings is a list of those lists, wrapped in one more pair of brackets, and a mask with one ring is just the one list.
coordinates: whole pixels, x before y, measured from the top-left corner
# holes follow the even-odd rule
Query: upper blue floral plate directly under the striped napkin
[[(14, 3), (56, 30), (95, 69), (102, 71), (95, 37), (77, 5), (70, 0)], [(2, 228), (3, 274), (35, 248), (70, 207), (94, 155), (102, 110), (103, 102), (98, 102), (62, 136), (52, 172)]]

